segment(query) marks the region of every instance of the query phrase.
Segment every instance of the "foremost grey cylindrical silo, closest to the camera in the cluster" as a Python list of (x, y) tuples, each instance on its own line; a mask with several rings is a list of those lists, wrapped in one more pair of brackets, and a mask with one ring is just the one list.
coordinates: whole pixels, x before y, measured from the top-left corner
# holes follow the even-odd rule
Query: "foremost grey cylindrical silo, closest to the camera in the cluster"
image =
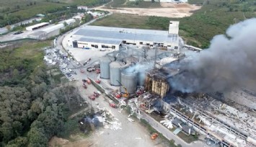
[[(137, 72), (131, 69), (125, 68), (121, 73), (121, 84), (123, 84), (129, 94), (135, 93), (137, 88)], [(125, 92), (123, 86), (121, 87), (121, 92)]]

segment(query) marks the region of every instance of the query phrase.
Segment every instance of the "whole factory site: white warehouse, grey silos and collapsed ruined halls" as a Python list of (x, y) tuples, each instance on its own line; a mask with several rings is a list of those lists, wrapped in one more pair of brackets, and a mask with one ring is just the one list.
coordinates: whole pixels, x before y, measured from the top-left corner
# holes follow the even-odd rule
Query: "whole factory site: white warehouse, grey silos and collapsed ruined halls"
[[(211, 146), (256, 146), (253, 106), (241, 108), (214, 94), (183, 94), (172, 88), (170, 79), (183, 72), (172, 65), (200, 53), (200, 48), (182, 44), (178, 30), (175, 21), (169, 22), (169, 31), (87, 25), (66, 37), (65, 44), (87, 54), (102, 53), (94, 59), (100, 64), (97, 79), (104, 83), (99, 86), (120, 103), (126, 99), (137, 116), (161, 112), (165, 117), (160, 123), (175, 128), (173, 133), (204, 135)], [(91, 73), (97, 67), (87, 62), (81, 64)]]

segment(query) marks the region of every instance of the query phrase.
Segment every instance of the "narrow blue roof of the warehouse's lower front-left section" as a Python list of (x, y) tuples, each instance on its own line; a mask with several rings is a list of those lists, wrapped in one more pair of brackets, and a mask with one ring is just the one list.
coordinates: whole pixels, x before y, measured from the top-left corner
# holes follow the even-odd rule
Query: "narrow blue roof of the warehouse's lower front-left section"
[(90, 38), (90, 37), (81, 37), (78, 41), (88, 42), (88, 43), (104, 43), (111, 45), (120, 45), (122, 40), (107, 40), (105, 38)]

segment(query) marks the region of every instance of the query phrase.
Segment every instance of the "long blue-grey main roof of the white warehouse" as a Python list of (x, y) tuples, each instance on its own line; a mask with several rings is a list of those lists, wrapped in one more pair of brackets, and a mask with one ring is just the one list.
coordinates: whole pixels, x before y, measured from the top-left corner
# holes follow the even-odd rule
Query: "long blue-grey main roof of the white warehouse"
[(167, 31), (136, 30), (119, 27), (86, 26), (78, 30), (74, 35), (120, 40), (141, 40), (155, 43), (178, 42), (178, 38), (176, 36), (173, 37), (172, 35), (169, 35)]

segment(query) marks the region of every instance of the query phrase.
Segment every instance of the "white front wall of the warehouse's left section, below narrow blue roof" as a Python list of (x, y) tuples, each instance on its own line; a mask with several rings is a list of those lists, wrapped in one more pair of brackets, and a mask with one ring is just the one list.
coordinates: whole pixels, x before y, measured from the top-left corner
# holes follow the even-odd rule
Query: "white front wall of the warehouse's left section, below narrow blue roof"
[[(84, 43), (84, 44), (81, 44)], [(119, 50), (119, 45), (112, 45), (112, 44), (104, 44), (104, 43), (87, 43), (77, 41), (78, 48), (93, 48), (92, 45), (98, 45), (98, 48), (95, 49), (105, 49), (105, 50)], [(107, 45), (110, 48), (102, 48), (102, 45)], [(115, 46), (115, 49), (112, 49), (112, 46)]]

